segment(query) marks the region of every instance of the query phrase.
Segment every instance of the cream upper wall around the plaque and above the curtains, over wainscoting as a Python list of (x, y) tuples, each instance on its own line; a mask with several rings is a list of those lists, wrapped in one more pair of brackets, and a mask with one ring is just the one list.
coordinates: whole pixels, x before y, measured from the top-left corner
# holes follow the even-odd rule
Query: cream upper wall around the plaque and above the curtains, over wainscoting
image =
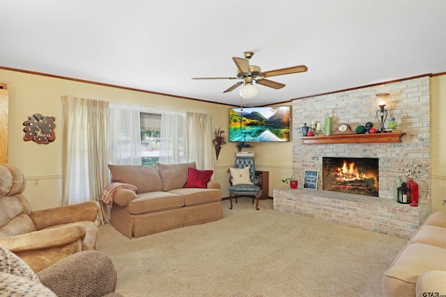
[[(120, 88), (54, 79), (22, 72), (0, 70), (0, 80), (8, 83), (9, 163), (19, 166), (25, 175), (61, 175), (62, 159), (62, 95), (73, 95), (109, 102), (125, 102), (152, 109), (197, 111), (213, 115), (213, 125), (228, 125), (228, 107), (195, 100), (178, 99)], [(34, 113), (56, 118), (56, 141), (38, 145), (23, 141), (23, 122)], [(225, 158), (222, 156), (222, 161)]]

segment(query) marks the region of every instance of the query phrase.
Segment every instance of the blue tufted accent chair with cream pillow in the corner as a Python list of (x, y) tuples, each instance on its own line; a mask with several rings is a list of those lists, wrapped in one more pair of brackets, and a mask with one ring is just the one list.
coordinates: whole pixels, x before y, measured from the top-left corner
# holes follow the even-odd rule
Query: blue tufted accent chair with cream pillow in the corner
[(255, 175), (256, 166), (253, 157), (236, 157), (236, 163), (234, 168), (229, 168), (231, 171), (231, 177), (229, 178), (229, 201), (232, 198), (239, 196), (252, 197), (252, 204), (254, 204), (254, 198), (256, 198), (256, 209), (259, 210), (260, 188), (256, 185)]

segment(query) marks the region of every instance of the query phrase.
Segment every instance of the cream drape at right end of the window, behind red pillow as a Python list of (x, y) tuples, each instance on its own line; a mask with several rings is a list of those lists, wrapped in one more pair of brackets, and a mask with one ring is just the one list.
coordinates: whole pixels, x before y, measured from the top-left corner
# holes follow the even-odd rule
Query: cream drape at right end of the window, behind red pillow
[(201, 170), (214, 170), (211, 118), (207, 113), (188, 112), (186, 116), (185, 161), (195, 161)]

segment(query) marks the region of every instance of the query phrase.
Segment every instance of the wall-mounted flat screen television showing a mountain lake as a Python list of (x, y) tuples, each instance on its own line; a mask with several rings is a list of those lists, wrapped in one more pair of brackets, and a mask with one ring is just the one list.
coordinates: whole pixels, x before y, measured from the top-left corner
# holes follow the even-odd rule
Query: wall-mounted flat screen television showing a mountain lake
[(290, 141), (290, 106), (229, 110), (230, 142)]

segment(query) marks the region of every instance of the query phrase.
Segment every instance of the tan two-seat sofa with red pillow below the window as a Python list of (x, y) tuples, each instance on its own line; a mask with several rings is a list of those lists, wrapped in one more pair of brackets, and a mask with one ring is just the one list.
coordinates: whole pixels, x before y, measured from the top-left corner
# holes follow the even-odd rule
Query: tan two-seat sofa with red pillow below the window
[(112, 182), (136, 186), (136, 193), (129, 188), (114, 193), (112, 226), (132, 238), (223, 218), (220, 183), (195, 181), (197, 187), (184, 187), (194, 186), (191, 179), (209, 171), (196, 168), (195, 162), (109, 165)]

